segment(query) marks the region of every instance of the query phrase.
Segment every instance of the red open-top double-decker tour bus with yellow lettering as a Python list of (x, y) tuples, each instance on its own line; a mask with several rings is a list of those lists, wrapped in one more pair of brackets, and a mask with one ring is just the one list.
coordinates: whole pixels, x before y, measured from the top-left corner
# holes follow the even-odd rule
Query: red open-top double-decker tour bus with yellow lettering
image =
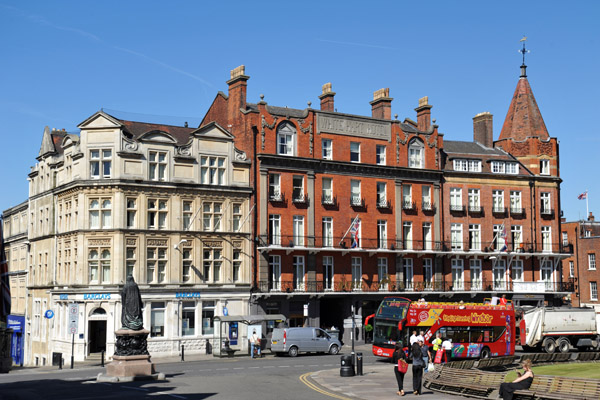
[(515, 311), (512, 304), (411, 302), (386, 297), (377, 313), (365, 319), (373, 324), (373, 354), (391, 357), (394, 345), (408, 346), (412, 331), (425, 332), (425, 342), (437, 332), (452, 339), (452, 358), (488, 358), (515, 353)]

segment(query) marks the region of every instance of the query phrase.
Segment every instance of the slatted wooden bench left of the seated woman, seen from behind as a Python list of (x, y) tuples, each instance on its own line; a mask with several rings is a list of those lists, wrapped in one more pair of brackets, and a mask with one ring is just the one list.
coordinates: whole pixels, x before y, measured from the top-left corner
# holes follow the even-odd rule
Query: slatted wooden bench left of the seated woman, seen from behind
[(456, 369), (444, 365), (436, 367), (431, 376), (425, 377), (424, 386), (442, 393), (491, 399), (497, 396), (505, 377), (506, 373), (502, 372)]

